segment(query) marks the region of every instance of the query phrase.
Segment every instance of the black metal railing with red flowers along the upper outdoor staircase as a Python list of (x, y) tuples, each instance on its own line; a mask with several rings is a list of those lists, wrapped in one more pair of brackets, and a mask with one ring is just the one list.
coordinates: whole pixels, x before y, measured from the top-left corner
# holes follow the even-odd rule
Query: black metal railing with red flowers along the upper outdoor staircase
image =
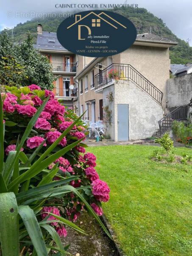
[(95, 75), (95, 90), (106, 86), (113, 79), (132, 80), (161, 104), (163, 93), (130, 64), (112, 63)]

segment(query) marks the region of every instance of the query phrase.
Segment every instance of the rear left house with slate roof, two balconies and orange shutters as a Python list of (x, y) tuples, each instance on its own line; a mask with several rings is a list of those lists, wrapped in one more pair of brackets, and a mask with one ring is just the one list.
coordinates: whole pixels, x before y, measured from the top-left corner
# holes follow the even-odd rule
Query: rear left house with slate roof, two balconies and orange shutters
[(37, 43), (34, 47), (47, 57), (53, 65), (53, 73), (58, 76), (53, 82), (56, 98), (63, 100), (66, 106), (72, 107), (78, 101), (77, 87), (73, 79), (76, 75), (77, 56), (58, 42), (56, 33), (42, 31), (41, 24), (37, 25)]

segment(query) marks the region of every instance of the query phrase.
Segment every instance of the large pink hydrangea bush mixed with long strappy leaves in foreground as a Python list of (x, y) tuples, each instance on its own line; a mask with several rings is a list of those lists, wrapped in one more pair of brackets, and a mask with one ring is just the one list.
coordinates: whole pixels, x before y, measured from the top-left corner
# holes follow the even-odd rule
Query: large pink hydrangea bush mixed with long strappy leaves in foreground
[[(109, 187), (99, 180), (96, 157), (85, 154), (81, 117), (66, 111), (52, 92), (35, 84), (6, 89), (7, 93), (1, 93), (3, 115), (0, 104), (0, 203), (7, 202), (6, 211), (0, 209), (5, 222), (0, 225), (3, 255), (17, 255), (10, 248), (18, 250), (19, 237), (20, 248), (26, 248), (23, 255), (28, 255), (27, 250), (47, 255), (46, 247), (54, 248), (53, 239), (56, 250), (64, 252), (58, 239), (67, 234), (64, 225), (83, 232), (70, 222), (83, 209), (100, 222), (97, 215), (102, 214), (101, 201), (109, 200)], [(12, 208), (15, 219), (10, 222)], [(106, 231), (102, 222), (100, 225)]]

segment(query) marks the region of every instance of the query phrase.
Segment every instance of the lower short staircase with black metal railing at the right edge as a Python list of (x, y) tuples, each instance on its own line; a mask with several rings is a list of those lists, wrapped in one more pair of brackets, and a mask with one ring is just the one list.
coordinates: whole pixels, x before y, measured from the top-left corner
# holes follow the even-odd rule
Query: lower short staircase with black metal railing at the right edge
[(176, 121), (187, 121), (188, 118), (188, 106), (180, 106), (177, 107), (175, 110), (170, 112), (164, 118), (159, 120), (159, 129), (158, 131), (153, 134), (153, 136), (160, 137), (165, 133), (168, 132), (171, 127), (173, 126), (173, 122)]

